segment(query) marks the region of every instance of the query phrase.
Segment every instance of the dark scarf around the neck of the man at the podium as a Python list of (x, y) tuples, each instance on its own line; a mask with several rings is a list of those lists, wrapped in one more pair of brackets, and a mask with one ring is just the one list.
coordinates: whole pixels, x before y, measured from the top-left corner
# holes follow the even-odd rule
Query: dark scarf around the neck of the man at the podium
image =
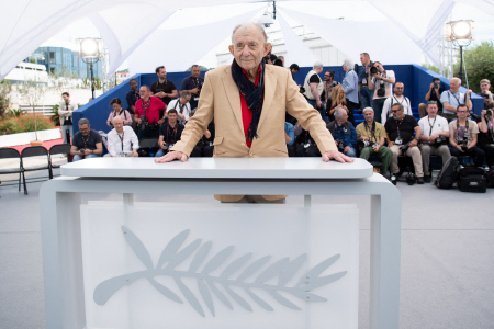
[(265, 91), (265, 60), (261, 61), (261, 71), (259, 72), (259, 83), (257, 87), (250, 81), (242, 71), (242, 67), (238, 66), (234, 59), (232, 63), (232, 77), (237, 84), (238, 90), (247, 101), (247, 107), (252, 111), (252, 121), (250, 122), (249, 129), (247, 131), (247, 140), (252, 140), (254, 137), (259, 138), (257, 135), (257, 126), (262, 112), (262, 92)]

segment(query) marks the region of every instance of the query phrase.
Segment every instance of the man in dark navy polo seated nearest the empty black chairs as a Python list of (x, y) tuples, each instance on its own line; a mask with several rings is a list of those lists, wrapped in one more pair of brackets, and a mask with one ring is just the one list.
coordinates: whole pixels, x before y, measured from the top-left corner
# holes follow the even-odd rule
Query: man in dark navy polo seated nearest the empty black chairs
[(96, 158), (103, 152), (103, 141), (98, 132), (89, 126), (89, 120), (79, 120), (79, 132), (74, 135), (70, 154), (74, 156), (72, 162), (82, 159)]

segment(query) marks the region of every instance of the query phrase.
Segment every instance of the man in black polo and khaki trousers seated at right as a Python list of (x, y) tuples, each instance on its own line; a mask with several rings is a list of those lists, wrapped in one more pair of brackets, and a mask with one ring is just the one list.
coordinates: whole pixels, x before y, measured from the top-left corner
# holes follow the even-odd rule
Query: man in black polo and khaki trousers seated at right
[[(422, 155), (418, 149), (418, 140), (420, 139), (420, 127), (412, 115), (403, 113), (403, 105), (400, 103), (391, 106), (393, 117), (386, 121), (384, 128), (386, 129), (388, 147), (393, 152), (391, 158), (391, 182), (396, 184), (396, 174), (400, 172), (397, 157), (402, 155), (412, 157), (417, 175), (417, 184), (424, 184), (424, 171), (422, 167)], [(415, 137), (414, 137), (415, 133)]]

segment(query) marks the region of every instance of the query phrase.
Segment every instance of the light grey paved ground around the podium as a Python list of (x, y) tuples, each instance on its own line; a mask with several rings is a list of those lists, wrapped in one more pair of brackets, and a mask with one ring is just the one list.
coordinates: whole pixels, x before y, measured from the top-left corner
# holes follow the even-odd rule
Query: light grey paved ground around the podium
[[(44, 175), (44, 173), (43, 173)], [(0, 177), (3, 179), (3, 177)], [(38, 190), (0, 185), (0, 328), (45, 328)], [(403, 197), (401, 328), (493, 328), (494, 189), (485, 194), (398, 183)], [(96, 196), (94, 196), (96, 197)], [(117, 198), (117, 195), (109, 195)], [(137, 195), (136, 201), (157, 200)], [(167, 202), (183, 202), (176, 195)], [(215, 202), (200, 196), (200, 202)], [(367, 196), (314, 197), (357, 203), (360, 224), (359, 328), (368, 328), (369, 206)], [(303, 204), (302, 196), (288, 203)]]

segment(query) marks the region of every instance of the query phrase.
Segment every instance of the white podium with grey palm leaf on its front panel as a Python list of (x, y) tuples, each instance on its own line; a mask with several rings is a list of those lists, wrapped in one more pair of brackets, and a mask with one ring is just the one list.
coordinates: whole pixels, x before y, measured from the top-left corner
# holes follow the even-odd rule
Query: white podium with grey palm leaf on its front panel
[[(121, 193), (123, 203), (85, 205), (81, 193)], [(166, 222), (143, 213), (148, 209), (153, 214), (155, 207), (159, 212), (160, 205), (135, 204), (134, 194), (304, 195), (304, 207), (168, 205), (164, 213), (183, 215), (181, 220)], [(332, 294), (337, 296), (345, 288), (352, 292), (350, 295), (358, 293), (358, 248), (355, 253), (358, 238), (355, 241), (355, 235), (344, 234), (340, 240), (338, 235), (332, 236), (330, 241), (316, 238), (327, 227), (348, 227), (355, 231), (355, 225), (349, 224), (353, 212), (351, 207), (339, 209), (334, 205), (313, 207), (311, 195), (371, 196), (369, 327), (397, 328), (400, 192), (382, 175), (373, 174), (364, 160), (343, 164), (326, 163), (319, 158), (192, 158), (183, 163), (161, 164), (150, 158), (99, 158), (63, 166), (61, 177), (44, 183), (40, 192), (47, 328), (92, 328), (88, 322), (101, 319), (110, 309), (139, 315), (125, 326), (99, 325), (99, 328), (150, 328), (145, 319), (153, 304), (170, 313), (162, 317), (161, 327), (153, 328), (178, 327), (180, 322), (172, 318), (176, 313), (183, 313), (178, 319), (188, 324), (180, 328), (243, 328), (234, 326), (235, 321), (261, 328), (256, 317), (265, 317), (261, 324), (266, 328), (277, 328), (277, 325), (289, 328), (280, 319), (291, 321), (296, 328), (300, 311), (304, 311), (301, 324), (305, 325), (296, 325), (297, 328), (324, 328), (317, 326), (323, 324), (321, 317), (328, 307), (338, 308)], [(327, 212), (337, 215), (344, 211), (350, 214), (343, 215), (349, 216), (348, 220), (336, 216), (332, 224), (324, 216)], [(194, 222), (198, 214), (206, 214), (207, 218)], [(290, 238), (270, 243), (269, 237), (273, 235), (270, 230), (276, 231), (280, 226), (285, 226), (284, 234)], [(105, 231), (108, 236), (102, 235)], [(242, 232), (255, 234), (257, 240), (249, 245), (251, 238), (244, 238)], [(290, 239), (297, 240), (299, 245)], [(153, 248), (147, 249), (155, 245), (165, 247), (165, 251), (155, 254)], [(341, 257), (332, 253), (338, 245), (353, 250), (353, 259), (345, 257), (347, 253)], [(243, 247), (251, 250), (246, 249), (245, 253)], [(235, 248), (240, 253), (235, 254)], [(272, 260), (270, 253), (274, 256)], [(284, 258), (288, 254), (292, 258)], [(186, 259), (187, 268), (183, 264), (180, 268)], [(119, 272), (131, 269), (128, 273)], [(323, 272), (328, 275), (324, 276)], [(159, 275), (169, 276), (173, 288), (167, 281), (156, 279)], [(247, 279), (249, 275), (254, 279)], [(193, 288), (188, 280), (193, 280)], [(355, 298), (347, 302), (355, 305)], [(139, 309), (146, 303), (150, 306)], [(352, 316), (357, 316), (355, 311)], [(351, 324), (357, 324), (357, 319)], [(346, 326), (353, 328), (353, 325)]]

